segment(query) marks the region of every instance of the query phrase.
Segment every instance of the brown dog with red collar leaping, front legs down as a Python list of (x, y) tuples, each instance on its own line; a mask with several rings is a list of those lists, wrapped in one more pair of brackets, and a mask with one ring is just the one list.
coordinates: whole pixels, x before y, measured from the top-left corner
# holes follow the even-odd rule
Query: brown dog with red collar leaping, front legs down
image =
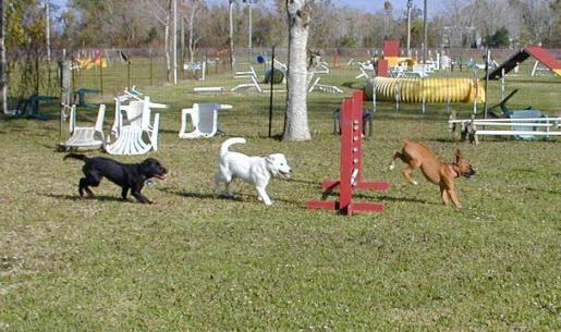
[(389, 165), (390, 170), (395, 167), (395, 159), (398, 158), (407, 164), (401, 172), (411, 184), (418, 185), (411, 173), (420, 168), (423, 175), (428, 181), (440, 186), (440, 195), (444, 205), (448, 205), (450, 198), (456, 208), (462, 208), (455, 193), (454, 180), (462, 175), (471, 177), (475, 175), (475, 171), (472, 169), (469, 160), (462, 157), (460, 150), (456, 150), (453, 162), (443, 163), (423, 144), (405, 139), (402, 151), (393, 152)]

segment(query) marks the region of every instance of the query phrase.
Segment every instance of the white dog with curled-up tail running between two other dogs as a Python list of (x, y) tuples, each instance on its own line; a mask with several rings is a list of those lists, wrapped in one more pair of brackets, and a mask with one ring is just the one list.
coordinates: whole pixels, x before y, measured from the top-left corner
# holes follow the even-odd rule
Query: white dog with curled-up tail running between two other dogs
[(218, 172), (215, 174), (216, 190), (220, 192), (220, 183), (225, 183), (225, 194), (233, 196), (232, 181), (240, 177), (255, 185), (259, 194), (259, 200), (265, 205), (272, 205), (272, 200), (265, 190), (272, 176), (277, 175), (288, 180), (292, 169), (282, 153), (273, 153), (268, 157), (249, 157), (240, 152), (231, 152), (228, 149), (233, 144), (243, 144), (245, 138), (235, 137), (227, 139), (220, 147)]

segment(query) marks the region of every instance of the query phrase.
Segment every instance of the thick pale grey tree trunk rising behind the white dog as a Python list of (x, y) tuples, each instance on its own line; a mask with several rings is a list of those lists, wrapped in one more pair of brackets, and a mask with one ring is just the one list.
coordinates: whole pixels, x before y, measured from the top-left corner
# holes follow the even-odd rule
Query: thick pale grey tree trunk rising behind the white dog
[(286, 0), (289, 20), (289, 65), (283, 140), (310, 139), (307, 114), (306, 49), (310, 0)]

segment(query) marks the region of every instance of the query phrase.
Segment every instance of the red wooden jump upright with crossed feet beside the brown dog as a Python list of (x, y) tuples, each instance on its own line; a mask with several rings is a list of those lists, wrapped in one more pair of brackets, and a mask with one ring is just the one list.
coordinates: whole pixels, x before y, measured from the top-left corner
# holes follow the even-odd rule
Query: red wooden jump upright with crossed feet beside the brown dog
[(379, 202), (354, 202), (353, 189), (386, 190), (390, 187), (387, 182), (365, 182), (362, 172), (363, 157), (363, 91), (353, 93), (351, 98), (344, 98), (341, 106), (341, 179), (324, 181), (321, 188), (332, 190), (339, 186), (339, 200), (309, 200), (308, 209), (329, 209), (344, 214), (356, 211), (382, 211)]

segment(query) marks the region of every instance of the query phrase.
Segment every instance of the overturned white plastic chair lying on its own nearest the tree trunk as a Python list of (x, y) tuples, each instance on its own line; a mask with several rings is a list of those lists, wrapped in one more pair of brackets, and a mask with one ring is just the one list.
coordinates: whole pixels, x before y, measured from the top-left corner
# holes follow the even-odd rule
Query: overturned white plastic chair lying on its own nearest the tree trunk
[[(181, 110), (180, 138), (210, 138), (220, 128), (218, 126), (218, 111), (232, 109), (231, 104), (194, 103), (193, 108)], [(187, 116), (191, 118), (193, 131), (187, 132)]]

